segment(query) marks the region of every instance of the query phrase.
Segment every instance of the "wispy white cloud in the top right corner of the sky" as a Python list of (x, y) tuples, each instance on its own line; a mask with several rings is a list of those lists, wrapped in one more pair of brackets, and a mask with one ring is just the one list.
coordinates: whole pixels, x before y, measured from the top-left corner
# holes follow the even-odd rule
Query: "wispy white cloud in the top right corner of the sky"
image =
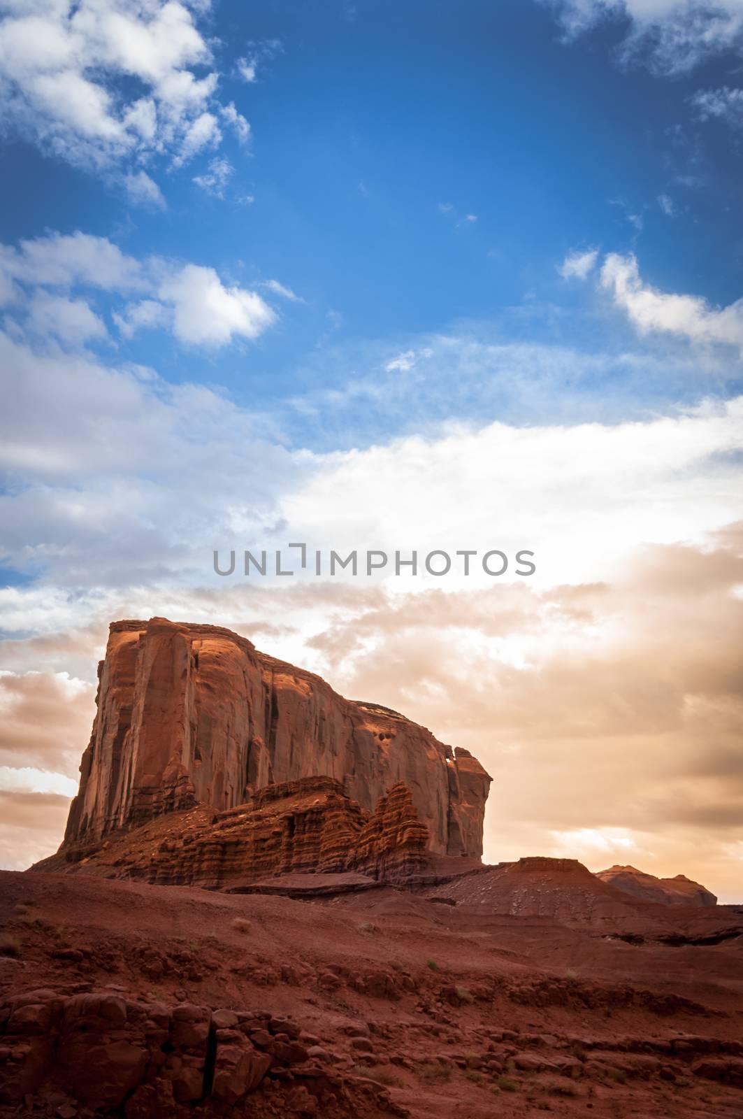
[(620, 58), (680, 74), (743, 40), (742, 0), (546, 0), (568, 36), (604, 20), (628, 22)]

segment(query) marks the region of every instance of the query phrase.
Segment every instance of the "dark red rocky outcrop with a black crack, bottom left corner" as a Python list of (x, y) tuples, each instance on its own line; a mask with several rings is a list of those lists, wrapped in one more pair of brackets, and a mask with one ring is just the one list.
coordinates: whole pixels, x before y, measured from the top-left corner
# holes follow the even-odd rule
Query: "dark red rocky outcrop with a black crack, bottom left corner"
[[(70, 1119), (81, 1108), (126, 1119), (179, 1119), (192, 1107), (256, 1119), (354, 1113), (354, 1080), (313, 1041), (270, 1012), (29, 990), (0, 1005), (0, 1104)], [(375, 1096), (386, 1113), (405, 1113), (385, 1089)]]

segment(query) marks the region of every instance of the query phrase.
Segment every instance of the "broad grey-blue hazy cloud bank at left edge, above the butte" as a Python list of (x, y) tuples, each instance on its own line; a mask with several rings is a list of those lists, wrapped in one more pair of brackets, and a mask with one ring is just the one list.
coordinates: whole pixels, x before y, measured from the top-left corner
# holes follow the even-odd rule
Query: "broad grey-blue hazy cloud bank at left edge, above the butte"
[[(122, 581), (207, 574), (216, 543), (275, 521), (276, 493), (300, 467), (218, 392), (38, 352), (2, 331), (0, 384), (0, 467), (12, 480), (0, 495), (0, 555), (48, 567), (57, 587), (87, 584), (93, 599)], [(4, 622), (44, 628), (45, 611), (51, 628), (70, 620), (76, 608), (64, 590), (53, 608), (50, 590), (34, 587), (38, 608), (22, 589), (0, 594)]]

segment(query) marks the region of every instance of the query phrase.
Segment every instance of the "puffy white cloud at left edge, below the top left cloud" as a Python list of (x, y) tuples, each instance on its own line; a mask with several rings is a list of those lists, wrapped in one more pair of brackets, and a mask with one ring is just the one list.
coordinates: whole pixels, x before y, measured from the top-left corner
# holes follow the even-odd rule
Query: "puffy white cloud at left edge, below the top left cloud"
[[(215, 191), (226, 175), (218, 163)], [(257, 338), (276, 318), (257, 292), (225, 285), (214, 269), (138, 260), (105, 237), (50, 234), (23, 241), (18, 248), (0, 246), (0, 300), (16, 316), (17, 329), (67, 345), (105, 338), (106, 328), (88, 298), (72, 298), (75, 289), (141, 297), (112, 311), (124, 337), (164, 327), (181, 342), (217, 347), (234, 338)]]

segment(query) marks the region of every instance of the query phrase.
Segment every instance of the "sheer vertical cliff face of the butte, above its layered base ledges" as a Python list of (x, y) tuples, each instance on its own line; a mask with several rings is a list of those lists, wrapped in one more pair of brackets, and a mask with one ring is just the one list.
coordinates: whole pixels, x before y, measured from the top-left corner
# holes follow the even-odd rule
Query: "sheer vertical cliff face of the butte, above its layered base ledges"
[(491, 779), (474, 758), (396, 712), (344, 699), (229, 630), (114, 622), (96, 703), (68, 852), (163, 814), (199, 803), (224, 812), (267, 786), (313, 777), (333, 778), (366, 812), (402, 782), (431, 852), (482, 852)]

